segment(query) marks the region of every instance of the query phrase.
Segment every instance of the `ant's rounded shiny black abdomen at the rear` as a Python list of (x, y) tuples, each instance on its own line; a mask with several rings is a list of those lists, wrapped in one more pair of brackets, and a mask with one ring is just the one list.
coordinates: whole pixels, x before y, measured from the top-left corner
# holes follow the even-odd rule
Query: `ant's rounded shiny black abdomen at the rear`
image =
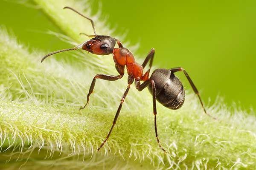
[[(153, 79), (156, 86), (157, 101), (169, 109), (180, 108), (185, 99), (185, 91), (180, 79), (163, 68), (156, 69), (150, 79)], [(148, 86), (152, 93), (152, 86)]]

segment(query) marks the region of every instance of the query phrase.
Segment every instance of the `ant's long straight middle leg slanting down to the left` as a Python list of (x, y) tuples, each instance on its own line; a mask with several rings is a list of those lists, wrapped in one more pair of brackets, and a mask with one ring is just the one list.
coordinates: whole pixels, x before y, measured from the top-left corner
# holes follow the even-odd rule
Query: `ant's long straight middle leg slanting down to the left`
[(104, 142), (99, 146), (99, 148), (97, 149), (98, 151), (103, 147), (103, 145), (107, 142), (107, 140), (108, 140), (108, 138), (109, 138), (109, 136), (110, 136), (110, 134), (111, 134), (111, 132), (112, 132), (112, 130), (113, 130), (113, 127), (114, 127), (114, 125), (116, 124), (116, 120), (117, 120), (117, 118), (118, 118), (118, 116), (119, 116), (119, 113), (120, 113), (120, 111), (121, 111), (121, 108), (122, 108), (122, 103), (123, 102), (125, 102), (125, 97), (126, 97), (126, 95), (128, 94), (128, 91), (129, 91), (129, 89), (130, 89), (130, 85), (131, 85), (131, 83), (134, 81), (134, 78), (133, 77), (128, 77), (128, 86), (127, 86), (127, 88), (126, 88), (126, 90), (125, 90), (125, 93), (123, 94), (123, 96), (122, 96), (122, 99), (121, 99), (121, 102), (120, 102), (120, 105), (119, 105), (119, 107), (118, 107), (118, 109), (117, 109), (117, 111), (116, 111), (116, 116), (115, 116), (115, 118), (114, 118), (114, 120), (113, 120), (113, 125), (111, 126), (111, 129), (110, 129), (110, 131), (109, 131), (109, 133), (108, 133), (108, 136), (106, 137), (106, 139), (104, 140)]

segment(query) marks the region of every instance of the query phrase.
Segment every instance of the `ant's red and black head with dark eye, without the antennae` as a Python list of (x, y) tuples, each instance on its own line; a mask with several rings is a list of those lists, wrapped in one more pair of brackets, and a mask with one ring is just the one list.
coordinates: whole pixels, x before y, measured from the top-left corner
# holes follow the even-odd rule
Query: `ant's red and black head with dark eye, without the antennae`
[(89, 51), (92, 54), (108, 55), (113, 52), (116, 40), (107, 35), (97, 35), (96, 37), (88, 40), (82, 49)]

